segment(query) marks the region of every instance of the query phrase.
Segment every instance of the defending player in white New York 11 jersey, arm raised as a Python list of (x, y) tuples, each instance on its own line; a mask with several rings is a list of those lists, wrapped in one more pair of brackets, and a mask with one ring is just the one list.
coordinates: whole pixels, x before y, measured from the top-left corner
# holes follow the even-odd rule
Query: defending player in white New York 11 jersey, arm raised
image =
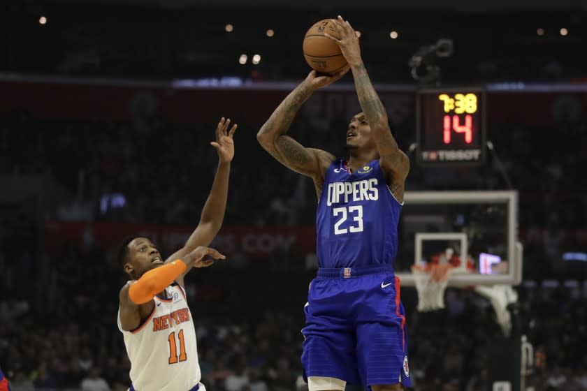
[(131, 361), (129, 391), (205, 391), (201, 380), (194, 320), (187, 307), (184, 276), (192, 267), (208, 267), (210, 258), (224, 259), (209, 249), (222, 226), (234, 156), (230, 119), (216, 129), (218, 169), (198, 226), (184, 247), (165, 262), (145, 237), (129, 237), (119, 261), (132, 281), (120, 290), (118, 327)]

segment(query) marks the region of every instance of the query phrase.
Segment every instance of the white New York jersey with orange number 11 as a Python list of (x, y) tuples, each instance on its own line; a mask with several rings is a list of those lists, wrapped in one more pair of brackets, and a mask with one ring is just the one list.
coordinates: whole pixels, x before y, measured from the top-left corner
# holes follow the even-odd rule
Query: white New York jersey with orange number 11
[[(154, 297), (153, 312), (136, 330), (122, 330), (131, 361), (131, 381), (136, 391), (188, 391), (201, 379), (196, 330), (185, 292), (168, 286), (167, 300)], [(205, 388), (200, 386), (199, 391)]]

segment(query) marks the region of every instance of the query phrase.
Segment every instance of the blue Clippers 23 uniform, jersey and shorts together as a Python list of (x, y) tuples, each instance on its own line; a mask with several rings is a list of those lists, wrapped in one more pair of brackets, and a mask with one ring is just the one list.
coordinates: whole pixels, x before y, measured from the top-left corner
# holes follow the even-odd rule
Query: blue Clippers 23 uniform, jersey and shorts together
[(305, 306), (305, 376), (410, 386), (405, 312), (393, 273), (402, 205), (379, 160), (333, 162), (318, 202), (319, 270)]

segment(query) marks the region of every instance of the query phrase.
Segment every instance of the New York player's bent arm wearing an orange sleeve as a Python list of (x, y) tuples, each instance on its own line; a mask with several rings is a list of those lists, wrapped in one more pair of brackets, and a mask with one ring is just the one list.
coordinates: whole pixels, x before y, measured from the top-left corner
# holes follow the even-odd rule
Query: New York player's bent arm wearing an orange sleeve
[(191, 267), (208, 267), (214, 263), (214, 259), (226, 258), (215, 249), (198, 246), (181, 258), (173, 260), (155, 269), (149, 270), (136, 281), (129, 281), (122, 287), (120, 299), (120, 323), (122, 330), (134, 330), (140, 325), (140, 307), (144, 306), (144, 313), (150, 313), (153, 309), (153, 297), (164, 290), (173, 281)]

